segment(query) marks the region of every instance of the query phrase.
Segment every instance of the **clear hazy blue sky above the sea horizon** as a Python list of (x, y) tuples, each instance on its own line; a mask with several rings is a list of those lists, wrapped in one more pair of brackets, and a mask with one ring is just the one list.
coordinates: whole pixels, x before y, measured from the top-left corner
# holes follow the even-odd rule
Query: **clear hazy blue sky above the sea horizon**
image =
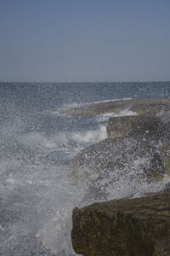
[(170, 0), (0, 0), (0, 81), (170, 81)]

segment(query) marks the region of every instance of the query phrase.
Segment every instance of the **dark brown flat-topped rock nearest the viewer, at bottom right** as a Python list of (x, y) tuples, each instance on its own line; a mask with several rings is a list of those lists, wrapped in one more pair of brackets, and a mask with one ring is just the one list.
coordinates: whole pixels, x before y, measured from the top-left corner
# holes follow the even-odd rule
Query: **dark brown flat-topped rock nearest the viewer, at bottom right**
[(170, 190), (75, 208), (71, 240), (84, 256), (169, 256)]

